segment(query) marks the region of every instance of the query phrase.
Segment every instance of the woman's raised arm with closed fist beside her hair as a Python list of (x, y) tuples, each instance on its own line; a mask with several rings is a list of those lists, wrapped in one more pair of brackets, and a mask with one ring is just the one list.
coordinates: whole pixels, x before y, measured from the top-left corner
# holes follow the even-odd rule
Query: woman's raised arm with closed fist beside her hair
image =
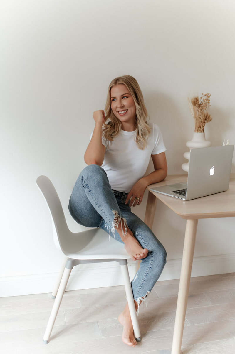
[(84, 161), (87, 165), (101, 166), (104, 161), (105, 146), (102, 144), (102, 126), (104, 123), (104, 111), (97, 110), (93, 113), (96, 122), (91, 141), (86, 149)]

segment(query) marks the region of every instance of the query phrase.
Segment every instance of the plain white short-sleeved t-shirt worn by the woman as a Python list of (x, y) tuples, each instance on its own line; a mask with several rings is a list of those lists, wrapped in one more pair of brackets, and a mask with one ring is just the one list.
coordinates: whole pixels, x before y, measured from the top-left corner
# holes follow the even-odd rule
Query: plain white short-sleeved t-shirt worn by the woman
[(101, 167), (107, 173), (112, 189), (129, 193), (133, 185), (144, 176), (150, 156), (166, 150), (159, 127), (151, 122), (149, 126), (151, 132), (144, 150), (140, 150), (134, 141), (135, 131), (121, 130), (113, 141), (102, 136), (106, 152)]

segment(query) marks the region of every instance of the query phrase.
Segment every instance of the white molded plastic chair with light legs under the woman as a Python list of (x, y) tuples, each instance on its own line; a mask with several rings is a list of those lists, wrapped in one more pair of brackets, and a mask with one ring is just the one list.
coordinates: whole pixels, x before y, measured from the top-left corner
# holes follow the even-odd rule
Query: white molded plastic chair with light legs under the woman
[(71, 232), (68, 229), (59, 196), (56, 193), (54, 185), (50, 179), (46, 176), (40, 176), (37, 178), (36, 183), (41, 190), (50, 210), (55, 245), (61, 249), (66, 256), (65, 261), (62, 264), (58, 282), (52, 293), (52, 298), (55, 298), (55, 302), (50, 314), (46, 332), (43, 337), (43, 343), (47, 344), (49, 341), (73, 267), (83, 263), (114, 261), (119, 262), (121, 266), (127, 302), (134, 329), (134, 336), (137, 342), (140, 342), (139, 324), (127, 268), (127, 259), (130, 257), (124, 249), (123, 244), (114, 240), (112, 237), (109, 240), (108, 234), (98, 228), (89, 229), (78, 233)]

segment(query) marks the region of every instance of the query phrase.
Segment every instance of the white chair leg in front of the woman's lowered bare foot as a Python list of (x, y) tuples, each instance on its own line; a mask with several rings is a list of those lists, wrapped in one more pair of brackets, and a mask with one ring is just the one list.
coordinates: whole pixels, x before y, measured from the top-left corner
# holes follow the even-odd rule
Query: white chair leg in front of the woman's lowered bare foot
[(137, 313), (135, 310), (133, 293), (132, 293), (132, 289), (131, 289), (131, 280), (129, 277), (127, 264), (120, 265), (120, 267), (121, 267), (122, 276), (123, 276), (123, 280), (124, 280), (124, 286), (125, 286), (125, 290), (126, 290), (126, 297), (127, 297), (127, 302), (128, 302), (128, 306), (129, 306), (129, 311), (131, 314), (131, 321), (132, 321), (132, 325), (133, 325), (134, 336), (135, 336), (137, 342), (140, 342), (140, 340), (141, 340), (140, 339), (140, 330), (139, 330)]

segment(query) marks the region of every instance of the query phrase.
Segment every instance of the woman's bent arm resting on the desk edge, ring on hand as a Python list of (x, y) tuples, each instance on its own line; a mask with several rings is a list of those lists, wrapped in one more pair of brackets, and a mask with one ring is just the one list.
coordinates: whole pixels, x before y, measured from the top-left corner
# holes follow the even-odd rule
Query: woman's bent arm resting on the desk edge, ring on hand
[[(147, 185), (157, 183), (162, 181), (165, 177), (167, 177), (167, 160), (165, 158), (165, 153), (160, 153), (156, 155), (151, 155), (154, 171), (149, 175), (140, 178), (138, 182), (136, 182), (126, 198), (126, 204), (129, 202), (129, 206), (140, 205), (145, 189)], [(135, 199), (135, 197), (139, 199)]]

